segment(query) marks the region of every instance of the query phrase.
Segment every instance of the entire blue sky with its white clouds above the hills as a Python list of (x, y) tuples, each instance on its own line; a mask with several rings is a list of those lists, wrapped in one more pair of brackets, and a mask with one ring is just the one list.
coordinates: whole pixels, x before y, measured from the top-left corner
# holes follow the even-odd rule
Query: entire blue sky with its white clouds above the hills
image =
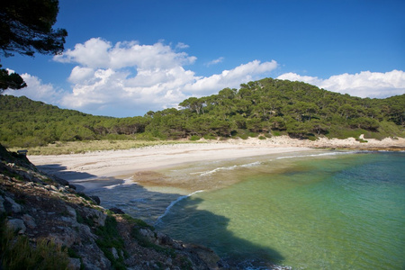
[(58, 56), (1, 58), (4, 94), (132, 117), (273, 77), (360, 97), (405, 94), (402, 0), (59, 0)]

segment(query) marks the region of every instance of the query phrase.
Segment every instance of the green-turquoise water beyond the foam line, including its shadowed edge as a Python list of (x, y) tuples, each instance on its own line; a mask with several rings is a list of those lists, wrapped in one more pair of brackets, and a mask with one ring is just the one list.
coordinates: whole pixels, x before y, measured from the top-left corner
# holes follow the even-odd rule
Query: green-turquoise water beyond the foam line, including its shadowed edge
[(157, 229), (222, 257), (294, 269), (404, 269), (404, 161), (405, 153), (296, 155), (211, 171), (243, 179), (175, 203)]

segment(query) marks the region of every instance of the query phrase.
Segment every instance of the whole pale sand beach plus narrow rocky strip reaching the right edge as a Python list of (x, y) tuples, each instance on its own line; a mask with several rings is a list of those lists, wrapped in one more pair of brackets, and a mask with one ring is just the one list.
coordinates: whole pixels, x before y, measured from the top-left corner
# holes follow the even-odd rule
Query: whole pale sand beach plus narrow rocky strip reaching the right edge
[(405, 147), (405, 139), (319, 139), (316, 141), (275, 137), (271, 139), (229, 139), (196, 144), (175, 144), (129, 150), (97, 151), (58, 156), (29, 156), (45, 172), (66, 180), (90, 177), (130, 175), (137, 171), (176, 166), (187, 162), (254, 157), (310, 148), (390, 148)]

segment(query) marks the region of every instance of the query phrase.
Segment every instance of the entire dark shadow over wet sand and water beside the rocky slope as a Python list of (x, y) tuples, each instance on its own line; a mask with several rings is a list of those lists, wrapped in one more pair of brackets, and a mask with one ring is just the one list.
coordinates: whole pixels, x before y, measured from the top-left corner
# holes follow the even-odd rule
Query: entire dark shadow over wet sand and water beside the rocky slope
[(178, 193), (159, 193), (113, 177), (97, 177), (67, 171), (57, 164), (37, 166), (77, 186), (78, 191), (98, 196), (106, 209), (120, 208), (133, 218), (155, 224), (157, 230), (172, 238), (211, 247), (222, 263), (232, 269), (271, 269), (284, 257), (270, 247), (238, 238), (228, 229), (229, 218), (198, 209), (201, 198)]

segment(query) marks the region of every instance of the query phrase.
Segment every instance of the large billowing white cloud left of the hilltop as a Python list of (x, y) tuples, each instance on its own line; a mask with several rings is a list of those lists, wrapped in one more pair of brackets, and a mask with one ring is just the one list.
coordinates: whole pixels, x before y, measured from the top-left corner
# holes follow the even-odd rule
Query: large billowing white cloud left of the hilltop
[(76, 64), (67, 79), (72, 92), (61, 97), (59, 103), (92, 113), (108, 108), (127, 110), (127, 114), (131, 110), (156, 111), (176, 106), (191, 95), (215, 94), (224, 87), (238, 87), (268, 76), (277, 67), (274, 60), (263, 63), (254, 60), (220, 74), (196, 76), (185, 67), (197, 58), (177, 51), (185, 48), (188, 45), (184, 43), (172, 49), (161, 42), (141, 45), (126, 41), (114, 45), (100, 38), (76, 44), (74, 49), (54, 57), (58, 62)]

